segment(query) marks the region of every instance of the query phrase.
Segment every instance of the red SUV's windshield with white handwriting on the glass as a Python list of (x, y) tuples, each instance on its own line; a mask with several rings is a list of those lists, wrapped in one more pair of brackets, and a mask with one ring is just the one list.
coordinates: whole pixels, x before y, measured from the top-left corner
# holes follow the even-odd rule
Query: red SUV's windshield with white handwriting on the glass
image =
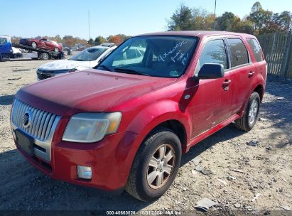
[(138, 36), (121, 44), (98, 66), (100, 70), (180, 77), (198, 39), (190, 36)]

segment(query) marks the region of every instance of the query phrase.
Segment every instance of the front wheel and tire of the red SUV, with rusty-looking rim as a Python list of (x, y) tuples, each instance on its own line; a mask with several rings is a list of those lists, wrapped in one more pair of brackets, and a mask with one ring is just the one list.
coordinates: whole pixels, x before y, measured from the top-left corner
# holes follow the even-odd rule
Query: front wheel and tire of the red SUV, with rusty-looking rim
[[(164, 151), (164, 156), (166, 156), (164, 161), (160, 160), (161, 155), (163, 155), (163, 153), (160, 154), (163, 152), (161, 149), (166, 149)], [(171, 158), (172, 153), (173, 157)], [(166, 193), (178, 173), (181, 154), (180, 140), (173, 131), (166, 128), (153, 131), (136, 153), (126, 183), (126, 192), (142, 201), (160, 198), (161, 195)], [(153, 160), (154, 158), (155, 160)], [(167, 158), (171, 159), (166, 161)], [(154, 161), (154, 163), (151, 163), (151, 161)], [(160, 179), (162, 184), (160, 184)]]

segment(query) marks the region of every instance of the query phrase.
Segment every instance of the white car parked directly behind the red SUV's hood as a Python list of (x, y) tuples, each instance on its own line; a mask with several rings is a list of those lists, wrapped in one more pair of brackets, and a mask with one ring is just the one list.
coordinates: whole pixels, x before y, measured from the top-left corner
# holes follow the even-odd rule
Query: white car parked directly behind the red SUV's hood
[(69, 60), (55, 60), (50, 63), (40, 65), (36, 71), (37, 80), (45, 80), (50, 77), (63, 75), (68, 72), (75, 72), (87, 68), (94, 68), (103, 60), (112, 50), (117, 48), (114, 43), (103, 43), (83, 50), (81, 53), (74, 55)]

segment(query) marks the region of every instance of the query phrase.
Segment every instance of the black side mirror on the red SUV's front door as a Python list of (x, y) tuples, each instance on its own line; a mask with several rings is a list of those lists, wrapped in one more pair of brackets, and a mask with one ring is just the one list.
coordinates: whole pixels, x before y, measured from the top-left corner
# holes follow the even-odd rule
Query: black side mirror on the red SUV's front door
[(200, 80), (217, 79), (221, 77), (224, 77), (224, 67), (217, 63), (204, 64), (198, 72), (198, 78)]

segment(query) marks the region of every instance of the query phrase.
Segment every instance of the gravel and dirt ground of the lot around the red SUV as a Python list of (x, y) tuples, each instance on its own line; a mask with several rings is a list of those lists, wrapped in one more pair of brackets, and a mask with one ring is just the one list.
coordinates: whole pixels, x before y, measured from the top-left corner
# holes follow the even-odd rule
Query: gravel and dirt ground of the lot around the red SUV
[[(194, 210), (202, 198), (217, 202), (210, 211), (292, 209), (291, 82), (270, 77), (263, 119), (252, 131), (230, 124), (205, 139), (183, 156), (168, 193), (156, 202), (139, 202), (126, 193), (112, 197), (52, 180), (18, 153), (9, 125), (11, 102), (19, 88), (36, 81), (36, 68), (43, 63), (0, 63), (0, 210)], [(258, 144), (249, 146), (249, 141)], [(198, 165), (213, 174), (195, 171)]]

